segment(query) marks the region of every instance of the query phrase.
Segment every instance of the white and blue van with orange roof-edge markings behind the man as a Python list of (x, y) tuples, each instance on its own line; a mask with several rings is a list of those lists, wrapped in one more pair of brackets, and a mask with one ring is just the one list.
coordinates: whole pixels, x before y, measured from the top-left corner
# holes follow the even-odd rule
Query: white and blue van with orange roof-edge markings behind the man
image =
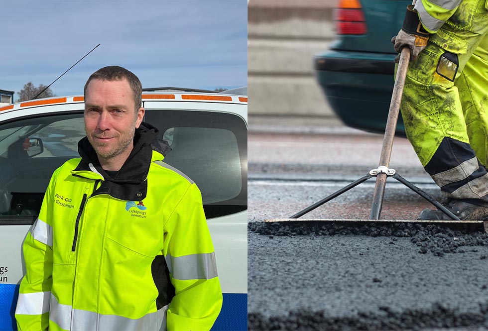
[[(247, 330), (247, 97), (143, 93), (142, 102), (172, 148), (165, 162), (202, 192), (224, 292), (212, 330)], [(52, 173), (79, 157), (83, 112), (82, 96), (0, 108), (0, 330), (16, 330), (21, 244)]]

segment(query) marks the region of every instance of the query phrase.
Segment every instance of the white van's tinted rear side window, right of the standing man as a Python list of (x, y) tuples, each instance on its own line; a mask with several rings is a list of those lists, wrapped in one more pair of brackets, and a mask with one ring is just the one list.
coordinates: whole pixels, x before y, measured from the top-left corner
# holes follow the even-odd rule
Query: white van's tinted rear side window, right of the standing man
[(164, 162), (200, 188), (207, 218), (247, 209), (247, 128), (240, 116), (215, 111), (147, 110), (172, 151)]

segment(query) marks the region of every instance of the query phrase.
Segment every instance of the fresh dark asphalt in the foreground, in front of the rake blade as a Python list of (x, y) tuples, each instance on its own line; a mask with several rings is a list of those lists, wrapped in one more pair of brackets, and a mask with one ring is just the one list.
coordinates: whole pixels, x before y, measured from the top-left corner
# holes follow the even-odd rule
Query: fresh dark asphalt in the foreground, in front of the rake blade
[(488, 235), (248, 225), (248, 330), (488, 330)]

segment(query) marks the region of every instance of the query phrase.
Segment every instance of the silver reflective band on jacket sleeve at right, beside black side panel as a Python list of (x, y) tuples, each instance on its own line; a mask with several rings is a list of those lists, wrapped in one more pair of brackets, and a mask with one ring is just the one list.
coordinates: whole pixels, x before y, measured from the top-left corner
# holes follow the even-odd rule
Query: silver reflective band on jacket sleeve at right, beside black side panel
[(174, 257), (166, 255), (169, 273), (174, 279), (211, 279), (217, 277), (215, 253), (191, 254)]

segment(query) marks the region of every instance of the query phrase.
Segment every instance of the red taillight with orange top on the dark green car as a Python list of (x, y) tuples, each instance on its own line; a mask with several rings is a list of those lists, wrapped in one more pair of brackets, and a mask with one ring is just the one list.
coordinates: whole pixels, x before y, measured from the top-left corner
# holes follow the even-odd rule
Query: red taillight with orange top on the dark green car
[(366, 34), (366, 20), (359, 0), (339, 0), (334, 20), (338, 34)]

